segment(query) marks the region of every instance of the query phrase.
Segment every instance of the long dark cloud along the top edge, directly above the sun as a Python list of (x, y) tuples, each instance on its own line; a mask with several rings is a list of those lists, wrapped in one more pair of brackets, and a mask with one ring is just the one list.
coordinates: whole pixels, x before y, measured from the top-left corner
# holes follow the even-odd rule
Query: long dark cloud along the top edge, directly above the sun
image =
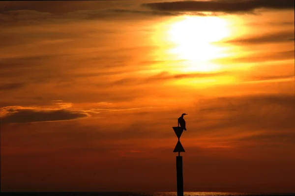
[(144, 3), (160, 11), (251, 12), (257, 8), (294, 9), (294, 0), (200, 0)]

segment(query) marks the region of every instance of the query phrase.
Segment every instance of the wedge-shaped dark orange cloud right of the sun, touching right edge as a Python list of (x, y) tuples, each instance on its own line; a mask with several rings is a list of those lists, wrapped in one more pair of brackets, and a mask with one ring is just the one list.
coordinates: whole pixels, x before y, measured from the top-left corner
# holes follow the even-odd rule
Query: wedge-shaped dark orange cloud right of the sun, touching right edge
[(294, 41), (292, 38), (294, 36), (294, 30), (282, 31), (271, 34), (264, 34), (262, 36), (249, 37), (249, 38), (237, 38), (234, 40), (228, 40), (227, 43), (235, 44), (263, 44), (263, 43), (273, 43), (273, 42), (288, 42)]

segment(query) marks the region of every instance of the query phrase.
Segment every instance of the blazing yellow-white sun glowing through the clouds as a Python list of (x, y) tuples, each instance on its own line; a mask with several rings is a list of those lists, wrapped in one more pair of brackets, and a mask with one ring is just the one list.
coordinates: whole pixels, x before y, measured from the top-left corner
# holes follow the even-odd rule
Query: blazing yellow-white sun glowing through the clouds
[(227, 21), (218, 17), (184, 16), (170, 25), (168, 39), (174, 43), (168, 53), (187, 60), (183, 71), (214, 71), (210, 60), (225, 57), (224, 48), (214, 45), (230, 34)]

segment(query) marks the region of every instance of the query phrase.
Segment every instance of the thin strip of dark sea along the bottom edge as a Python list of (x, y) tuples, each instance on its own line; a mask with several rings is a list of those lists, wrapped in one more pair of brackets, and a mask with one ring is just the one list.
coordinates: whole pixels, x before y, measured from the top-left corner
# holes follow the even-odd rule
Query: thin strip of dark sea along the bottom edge
[[(177, 196), (177, 192), (1, 192), (1, 196)], [(184, 196), (295, 196), (295, 193), (184, 192)]]

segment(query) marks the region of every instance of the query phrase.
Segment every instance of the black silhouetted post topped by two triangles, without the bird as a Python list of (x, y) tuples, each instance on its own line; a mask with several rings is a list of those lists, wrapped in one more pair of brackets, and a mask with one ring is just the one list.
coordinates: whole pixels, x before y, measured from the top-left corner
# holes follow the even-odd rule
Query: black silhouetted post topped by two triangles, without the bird
[(178, 156), (176, 157), (177, 196), (183, 196), (182, 156), (180, 156), (180, 152), (185, 152), (185, 151), (179, 140), (183, 132), (183, 128), (181, 127), (172, 127), (172, 128), (178, 138), (177, 144), (173, 151), (173, 152), (178, 152)]

